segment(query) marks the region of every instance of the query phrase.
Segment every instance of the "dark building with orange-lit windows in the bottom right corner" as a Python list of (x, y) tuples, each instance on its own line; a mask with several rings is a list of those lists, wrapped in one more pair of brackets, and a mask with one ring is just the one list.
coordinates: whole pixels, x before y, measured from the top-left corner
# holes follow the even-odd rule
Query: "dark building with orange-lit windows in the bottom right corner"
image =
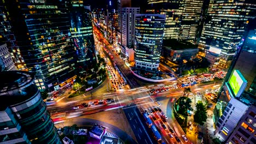
[(226, 143), (256, 143), (256, 106), (249, 106)]

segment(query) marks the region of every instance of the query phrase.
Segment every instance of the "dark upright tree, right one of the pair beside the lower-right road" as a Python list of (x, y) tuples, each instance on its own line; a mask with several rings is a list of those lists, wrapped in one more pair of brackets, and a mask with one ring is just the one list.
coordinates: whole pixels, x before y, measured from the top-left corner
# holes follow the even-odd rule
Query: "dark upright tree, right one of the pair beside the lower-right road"
[(202, 101), (196, 104), (196, 111), (194, 115), (194, 122), (203, 125), (207, 119), (206, 107), (203, 105)]

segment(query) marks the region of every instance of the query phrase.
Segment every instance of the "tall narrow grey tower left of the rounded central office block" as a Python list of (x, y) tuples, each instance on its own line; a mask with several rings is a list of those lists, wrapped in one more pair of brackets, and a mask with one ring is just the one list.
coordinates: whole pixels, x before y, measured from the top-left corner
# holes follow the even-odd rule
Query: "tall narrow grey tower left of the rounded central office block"
[(139, 14), (139, 8), (122, 8), (121, 12), (121, 33), (122, 33), (122, 52), (125, 49), (133, 49), (135, 39), (135, 16)]

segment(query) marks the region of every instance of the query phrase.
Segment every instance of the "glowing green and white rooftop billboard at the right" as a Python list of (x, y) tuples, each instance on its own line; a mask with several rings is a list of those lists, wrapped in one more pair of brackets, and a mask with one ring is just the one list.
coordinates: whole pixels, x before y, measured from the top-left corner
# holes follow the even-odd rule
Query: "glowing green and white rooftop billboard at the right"
[(247, 81), (239, 70), (234, 70), (228, 81), (228, 89), (233, 97), (240, 97), (243, 91), (245, 91)]

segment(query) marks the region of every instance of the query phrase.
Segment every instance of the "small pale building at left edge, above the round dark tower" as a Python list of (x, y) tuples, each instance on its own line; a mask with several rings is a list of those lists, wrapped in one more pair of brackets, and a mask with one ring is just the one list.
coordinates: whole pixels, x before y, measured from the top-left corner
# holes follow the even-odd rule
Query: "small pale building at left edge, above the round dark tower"
[(11, 59), (7, 44), (0, 44), (0, 61), (2, 70), (16, 70), (13, 59)]

